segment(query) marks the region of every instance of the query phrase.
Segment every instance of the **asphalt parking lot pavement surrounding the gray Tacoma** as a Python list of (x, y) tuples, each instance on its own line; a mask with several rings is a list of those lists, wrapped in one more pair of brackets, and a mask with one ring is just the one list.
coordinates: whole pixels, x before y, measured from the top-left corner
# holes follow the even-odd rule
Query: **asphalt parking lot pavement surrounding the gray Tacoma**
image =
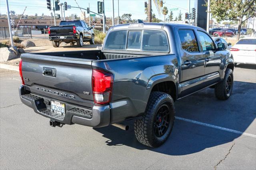
[(149, 148), (130, 130), (53, 128), (19, 99), (20, 77), (0, 69), (1, 169), (256, 169), (256, 66), (234, 70), (234, 89), (219, 101), (204, 89), (175, 102), (167, 142)]

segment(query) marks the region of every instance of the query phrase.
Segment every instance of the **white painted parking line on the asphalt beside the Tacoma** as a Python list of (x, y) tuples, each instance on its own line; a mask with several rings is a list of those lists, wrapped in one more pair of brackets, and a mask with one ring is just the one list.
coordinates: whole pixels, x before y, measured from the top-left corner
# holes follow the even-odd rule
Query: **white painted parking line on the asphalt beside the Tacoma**
[(185, 118), (177, 117), (177, 116), (175, 117), (175, 119), (256, 138), (256, 134), (250, 134), (250, 133), (241, 132), (241, 131), (238, 131), (238, 130), (233, 130), (233, 129), (230, 129), (230, 128), (219, 127), (219, 126), (216, 126), (216, 125), (211, 125), (211, 124), (208, 124), (208, 123), (202, 123), (202, 122), (198, 122), (198, 121), (193, 121), (193, 120), (190, 120), (190, 119), (185, 119)]

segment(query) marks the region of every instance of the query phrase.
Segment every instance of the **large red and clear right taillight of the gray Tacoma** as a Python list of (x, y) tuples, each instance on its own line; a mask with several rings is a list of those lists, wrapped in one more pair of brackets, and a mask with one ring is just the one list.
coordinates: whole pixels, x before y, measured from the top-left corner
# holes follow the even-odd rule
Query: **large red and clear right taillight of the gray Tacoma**
[(113, 86), (113, 75), (101, 70), (92, 71), (92, 93), (94, 103), (106, 104), (110, 102)]

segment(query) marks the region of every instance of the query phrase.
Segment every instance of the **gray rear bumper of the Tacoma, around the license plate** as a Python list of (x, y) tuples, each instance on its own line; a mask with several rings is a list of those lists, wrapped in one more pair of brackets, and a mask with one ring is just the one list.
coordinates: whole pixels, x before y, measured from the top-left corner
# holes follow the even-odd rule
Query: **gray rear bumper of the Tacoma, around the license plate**
[[(92, 109), (86, 107), (78, 107), (69, 103), (66, 105), (66, 114), (60, 115), (50, 110), (50, 105), (45, 105), (44, 101), (52, 99), (38, 94), (26, 91), (25, 86), (20, 86), (20, 100), (22, 103), (34, 109), (34, 111), (44, 117), (48, 117), (60, 123), (72, 125), (79, 124), (90, 127), (105, 127), (110, 124), (110, 106), (94, 106)], [(54, 101), (58, 101), (55, 100)]]

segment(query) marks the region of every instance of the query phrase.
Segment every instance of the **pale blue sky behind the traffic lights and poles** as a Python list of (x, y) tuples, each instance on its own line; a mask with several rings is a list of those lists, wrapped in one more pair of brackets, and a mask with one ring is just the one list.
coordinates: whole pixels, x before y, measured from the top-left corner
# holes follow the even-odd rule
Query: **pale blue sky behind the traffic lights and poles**
[[(97, 13), (97, 1), (102, 0), (76, 0), (78, 5), (81, 8), (89, 7), (90, 3), (90, 11)], [(132, 19), (145, 19), (146, 14), (144, 13), (144, 2), (148, 0), (119, 0), (119, 16), (122, 14), (132, 14)], [(51, 0), (52, 2), (52, 0)], [(60, 0), (61, 3), (67, 2), (68, 5), (78, 7), (75, 0)], [(112, 0), (104, 0), (105, 2), (105, 14), (107, 17), (112, 17)], [(170, 14), (171, 8), (178, 8), (178, 10), (173, 11), (174, 18), (178, 16), (178, 12), (182, 13), (182, 20), (185, 18), (185, 13), (188, 10), (188, 2), (189, 0), (163, 0), (164, 5), (168, 8), (168, 14)], [(190, 0), (191, 4), (194, 4), (194, 0)], [(22, 14), (25, 7), (26, 11), (24, 15), (34, 15), (38, 14), (38, 16), (48, 15), (53, 11), (49, 11), (46, 7), (46, 0), (8, 0), (9, 10), (13, 10), (16, 14)], [(152, 10), (153, 13), (156, 14), (156, 17), (164, 20), (164, 15), (158, 14), (154, 2), (152, 0)], [(0, 13), (6, 14), (6, 0), (0, 0)], [(56, 14), (60, 14), (60, 11), (57, 11)], [(65, 11), (65, 16), (70, 16), (71, 14), (77, 14), (80, 16), (81, 11), (78, 8), (71, 8)], [(166, 18), (168, 17), (168, 14)], [(87, 16), (86, 12), (86, 16)], [(114, 0), (114, 17), (118, 16), (118, 0)]]

